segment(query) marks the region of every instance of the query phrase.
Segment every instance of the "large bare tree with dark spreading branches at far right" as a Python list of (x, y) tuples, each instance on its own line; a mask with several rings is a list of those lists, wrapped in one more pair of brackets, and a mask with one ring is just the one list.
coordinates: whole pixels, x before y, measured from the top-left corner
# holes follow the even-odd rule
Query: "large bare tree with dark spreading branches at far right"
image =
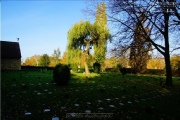
[[(166, 85), (172, 85), (172, 72), (170, 66), (170, 43), (178, 41), (178, 37), (173, 35), (180, 35), (179, 31), (179, 7), (176, 0), (114, 0), (108, 2), (108, 8), (111, 10), (109, 20), (115, 25), (114, 38), (118, 47), (127, 50), (130, 48), (133, 36), (135, 33), (135, 26), (140, 22), (138, 17), (143, 15), (145, 24), (140, 24), (147, 42), (150, 42), (154, 49), (159, 51), (165, 59), (166, 64)], [(150, 30), (151, 34), (147, 34), (146, 28)], [(179, 49), (180, 44), (176, 44)]]

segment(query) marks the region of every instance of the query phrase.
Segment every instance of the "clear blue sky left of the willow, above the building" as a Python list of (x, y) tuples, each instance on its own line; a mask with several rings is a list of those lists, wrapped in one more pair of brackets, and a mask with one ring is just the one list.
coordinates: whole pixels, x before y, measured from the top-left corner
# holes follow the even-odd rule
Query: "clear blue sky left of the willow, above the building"
[(85, 20), (84, 0), (2, 0), (1, 41), (17, 42), (22, 60), (33, 55), (52, 55), (59, 48), (61, 56), (68, 43), (67, 32)]

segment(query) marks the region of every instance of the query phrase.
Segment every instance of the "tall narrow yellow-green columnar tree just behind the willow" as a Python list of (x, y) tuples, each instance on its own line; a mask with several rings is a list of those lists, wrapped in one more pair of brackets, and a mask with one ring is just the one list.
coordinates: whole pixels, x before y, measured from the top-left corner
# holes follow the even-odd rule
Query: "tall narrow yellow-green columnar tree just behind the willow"
[(99, 40), (98, 44), (94, 45), (94, 57), (99, 63), (103, 63), (106, 57), (106, 44), (110, 35), (107, 28), (106, 5), (104, 2), (97, 6), (95, 25), (98, 28)]

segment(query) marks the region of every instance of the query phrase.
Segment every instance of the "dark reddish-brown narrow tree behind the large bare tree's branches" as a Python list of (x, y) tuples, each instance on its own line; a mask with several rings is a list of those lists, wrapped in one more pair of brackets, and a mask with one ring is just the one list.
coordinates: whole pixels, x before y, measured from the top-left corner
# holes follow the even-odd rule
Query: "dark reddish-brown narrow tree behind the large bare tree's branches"
[[(146, 71), (150, 59), (149, 51), (152, 49), (151, 43), (146, 40), (150, 34), (149, 29), (141, 27), (146, 21), (143, 14), (139, 16), (139, 21), (134, 30), (134, 40), (130, 45), (130, 65), (134, 73)], [(143, 29), (146, 29), (147, 34), (143, 33)]]

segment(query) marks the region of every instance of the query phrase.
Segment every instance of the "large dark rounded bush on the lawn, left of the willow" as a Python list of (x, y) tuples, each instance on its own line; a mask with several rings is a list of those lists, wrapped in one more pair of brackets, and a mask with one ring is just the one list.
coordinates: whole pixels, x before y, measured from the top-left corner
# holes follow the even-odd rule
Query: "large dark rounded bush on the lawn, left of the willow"
[(61, 86), (68, 84), (70, 75), (70, 69), (67, 65), (57, 64), (53, 70), (53, 80)]

